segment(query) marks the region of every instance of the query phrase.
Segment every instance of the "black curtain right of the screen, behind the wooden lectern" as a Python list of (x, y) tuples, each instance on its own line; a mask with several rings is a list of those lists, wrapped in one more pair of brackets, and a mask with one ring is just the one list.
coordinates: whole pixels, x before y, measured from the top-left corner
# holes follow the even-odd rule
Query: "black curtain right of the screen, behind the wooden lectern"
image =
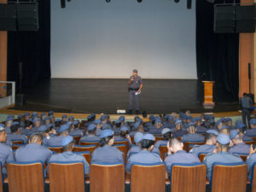
[(213, 32), (213, 5), (207, 0), (196, 1), (197, 76), (200, 81), (215, 81), (215, 102), (237, 102), (239, 34)]

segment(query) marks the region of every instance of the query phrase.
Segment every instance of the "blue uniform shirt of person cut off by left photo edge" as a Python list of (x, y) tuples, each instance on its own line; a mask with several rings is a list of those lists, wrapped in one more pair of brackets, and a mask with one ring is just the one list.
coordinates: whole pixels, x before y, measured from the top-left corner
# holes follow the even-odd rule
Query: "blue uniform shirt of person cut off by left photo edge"
[[(14, 161), (14, 154), (12, 148), (9, 147), (6, 143), (0, 143), (0, 162), (2, 167), (5, 163), (9, 163), (9, 161)], [(3, 177), (7, 176), (7, 171), (3, 168)]]

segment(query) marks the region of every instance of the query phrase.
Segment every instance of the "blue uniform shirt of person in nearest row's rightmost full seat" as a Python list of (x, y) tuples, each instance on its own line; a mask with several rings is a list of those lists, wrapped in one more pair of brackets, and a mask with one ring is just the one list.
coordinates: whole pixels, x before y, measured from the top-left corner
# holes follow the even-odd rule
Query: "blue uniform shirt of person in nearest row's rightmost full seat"
[(211, 180), (213, 163), (241, 163), (243, 161), (238, 154), (218, 152), (217, 154), (207, 154), (203, 162), (207, 166), (207, 178)]

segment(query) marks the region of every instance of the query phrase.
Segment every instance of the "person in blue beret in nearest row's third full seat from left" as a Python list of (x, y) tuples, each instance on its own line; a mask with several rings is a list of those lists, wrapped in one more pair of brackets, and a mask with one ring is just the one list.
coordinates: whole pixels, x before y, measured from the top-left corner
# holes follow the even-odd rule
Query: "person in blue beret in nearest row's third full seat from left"
[(100, 148), (96, 148), (91, 155), (91, 162), (124, 163), (123, 154), (118, 148), (113, 147), (114, 137), (112, 130), (103, 130)]

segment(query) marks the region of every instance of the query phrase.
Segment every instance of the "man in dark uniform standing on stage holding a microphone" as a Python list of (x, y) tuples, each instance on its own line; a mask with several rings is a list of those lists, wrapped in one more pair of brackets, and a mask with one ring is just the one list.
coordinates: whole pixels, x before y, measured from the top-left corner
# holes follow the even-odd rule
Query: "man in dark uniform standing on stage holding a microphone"
[(129, 93), (130, 93), (130, 106), (128, 113), (132, 113), (133, 102), (135, 100), (136, 113), (139, 113), (139, 95), (143, 88), (143, 79), (137, 75), (137, 69), (133, 70), (132, 76), (128, 81)]

